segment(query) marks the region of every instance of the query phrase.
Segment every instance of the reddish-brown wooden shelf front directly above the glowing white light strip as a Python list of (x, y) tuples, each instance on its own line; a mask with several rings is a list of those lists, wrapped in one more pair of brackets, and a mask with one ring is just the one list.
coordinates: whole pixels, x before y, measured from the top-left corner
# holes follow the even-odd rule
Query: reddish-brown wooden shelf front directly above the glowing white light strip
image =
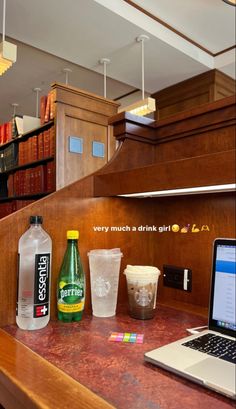
[(95, 175), (94, 193), (97, 197), (117, 196), (228, 183), (235, 183), (234, 149)]

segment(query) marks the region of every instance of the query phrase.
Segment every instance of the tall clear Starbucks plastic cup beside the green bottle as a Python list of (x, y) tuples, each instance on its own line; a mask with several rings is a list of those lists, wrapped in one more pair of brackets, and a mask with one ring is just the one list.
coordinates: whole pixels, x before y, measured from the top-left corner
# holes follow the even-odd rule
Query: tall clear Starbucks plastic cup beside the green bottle
[(120, 263), (120, 249), (98, 249), (88, 253), (92, 310), (95, 317), (116, 314)]

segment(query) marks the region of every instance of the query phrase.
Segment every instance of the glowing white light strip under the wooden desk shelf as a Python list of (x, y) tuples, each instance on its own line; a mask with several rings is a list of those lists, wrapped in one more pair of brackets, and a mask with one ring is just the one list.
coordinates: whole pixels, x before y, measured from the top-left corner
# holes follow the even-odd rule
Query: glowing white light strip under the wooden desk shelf
[(200, 193), (233, 192), (235, 190), (236, 190), (236, 184), (229, 183), (225, 185), (198, 186), (198, 187), (190, 187), (190, 188), (183, 188), (183, 189), (156, 190), (152, 192), (129, 193), (129, 194), (123, 194), (123, 195), (118, 195), (118, 196), (145, 198), (145, 197), (159, 197), (159, 196), (193, 195), (193, 194), (200, 194)]

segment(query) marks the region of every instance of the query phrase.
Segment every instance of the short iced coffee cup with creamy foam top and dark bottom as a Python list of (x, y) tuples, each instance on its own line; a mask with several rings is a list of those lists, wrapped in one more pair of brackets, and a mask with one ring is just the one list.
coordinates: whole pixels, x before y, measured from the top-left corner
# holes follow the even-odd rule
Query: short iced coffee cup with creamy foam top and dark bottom
[(151, 266), (127, 265), (126, 275), (130, 316), (137, 319), (154, 317), (160, 271)]

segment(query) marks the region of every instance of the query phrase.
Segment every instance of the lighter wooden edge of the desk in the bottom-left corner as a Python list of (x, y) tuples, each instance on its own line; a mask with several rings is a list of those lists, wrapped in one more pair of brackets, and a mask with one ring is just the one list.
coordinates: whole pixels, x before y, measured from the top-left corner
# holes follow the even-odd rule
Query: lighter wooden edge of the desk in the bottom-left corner
[(0, 329), (0, 404), (64, 409), (65, 402), (70, 409), (114, 408)]

